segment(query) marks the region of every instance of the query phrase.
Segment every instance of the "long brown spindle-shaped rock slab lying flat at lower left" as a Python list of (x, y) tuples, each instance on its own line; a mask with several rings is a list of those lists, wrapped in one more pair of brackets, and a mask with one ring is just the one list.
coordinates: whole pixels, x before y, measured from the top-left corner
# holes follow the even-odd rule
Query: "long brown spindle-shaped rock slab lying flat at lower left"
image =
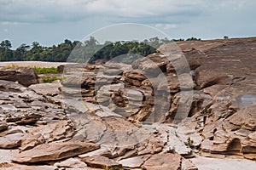
[(12, 161), (19, 163), (34, 163), (40, 161), (56, 161), (64, 158), (78, 156), (91, 150), (99, 149), (94, 143), (64, 142), (41, 144), (32, 150), (26, 150), (15, 156)]

